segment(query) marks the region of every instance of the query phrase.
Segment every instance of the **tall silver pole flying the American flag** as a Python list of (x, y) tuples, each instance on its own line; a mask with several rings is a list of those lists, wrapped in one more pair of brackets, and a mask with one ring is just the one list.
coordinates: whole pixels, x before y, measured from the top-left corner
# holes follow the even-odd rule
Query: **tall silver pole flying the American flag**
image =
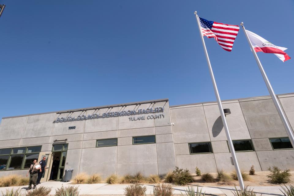
[(235, 166), (236, 173), (237, 173), (237, 176), (238, 176), (239, 185), (240, 185), (241, 190), (243, 191), (244, 190), (243, 178), (242, 178), (242, 175), (241, 175), (241, 172), (240, 172), (240, 168), (239, 168), (239, 164), (238, 164), (238, 161), (237, 161), (237, 158), (236, 158), (236, 153), (235, 153), (235, 149), (234, 149), (234, 146), (233, 146), (232, 138), (231, 138), (231, 135), (229, 133), (229, 129), (228, 129), (228, 124), (227, 124), (227, 121), (226, 121), (226, 117), (224, 115), (224, 109), (223, 109), (223, 106), (221, 105), (220, 95), (219, 95), (218, 90), (217, 90), (217, 83), (216, 83), (215, 78), (214, 78), (214, 75), (213, 75), (213, 71), (212, 71), (212, 67), (211, 67), (210, 60), (209, 60), (209, 57), (208, 57), (208, 53), (207, 53), (207, 50), (206, 50), (204, 38), (202, 36), (201, 25), (200, 25), (200, 22), (199, 22), (199, 17), (197, 15), (197, 11), (195, 11), (194, 14), (195, 14), (195, 17), (196, 17), (196, 20), (197, 20), (197, 24), (198, 24), (198, 28), (199, 28), (199, 32), (200, 32), (200, 37), (201, 37), (201, 41), (202, 41), (202, 45), (203, 45), (203, 49), (204, 49), (206, 61), (207, 61), (208, 68), (209, 68), (210, 77), (211, 77), (211, 80), (212, 80), (212, 83), (213, 83), (213, 88), (214, 88), (215, 96), (217, 98), (217, 104), (218, 104), (218, 108), (220, 110), (221, 120), (223, 122), (224, 130), (225, 130), (226, 135), (227, 135), (229, 149), (230, 149), (231, 154), (232, 154), (234, 166)]

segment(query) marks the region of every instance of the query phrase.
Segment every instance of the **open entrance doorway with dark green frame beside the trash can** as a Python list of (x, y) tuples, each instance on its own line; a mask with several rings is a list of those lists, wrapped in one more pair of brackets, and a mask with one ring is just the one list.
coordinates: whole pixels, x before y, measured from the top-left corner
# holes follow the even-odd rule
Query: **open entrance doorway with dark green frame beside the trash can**
[[(53, 163), (52, 163), (52, 169), (54, 167), (54, 173), (52, 178), (53, 180), (56, 180), (56, 181), (62, 180), (62, 177), (64, 174), (65, 161), (66, 161), (67, 147), (68, 147), (68, 144), (53, 145), (53, 148), (52, 148), (52, 152), (54, 153)], [(58, 157), (58, 160), (56, 159), (57, 157)]]

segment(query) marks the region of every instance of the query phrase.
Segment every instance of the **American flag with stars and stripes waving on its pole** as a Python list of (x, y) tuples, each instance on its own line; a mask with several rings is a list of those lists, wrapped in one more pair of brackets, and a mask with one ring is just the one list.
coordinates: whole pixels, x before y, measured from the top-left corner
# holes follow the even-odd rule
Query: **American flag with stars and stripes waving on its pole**
[(240, 29), (238, 25), (227, 25), (200, 17), (199, 19), (203, 36), (213, 37), (224, 50), (232, 51), (233, 43)]

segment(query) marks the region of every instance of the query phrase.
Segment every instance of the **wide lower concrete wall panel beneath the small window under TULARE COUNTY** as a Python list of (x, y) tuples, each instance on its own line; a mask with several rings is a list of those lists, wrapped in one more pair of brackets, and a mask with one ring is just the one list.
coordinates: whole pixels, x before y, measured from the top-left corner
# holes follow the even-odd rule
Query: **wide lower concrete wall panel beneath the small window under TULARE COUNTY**
[(118, 146), (117, 175), (158, 174), (156, 144)]

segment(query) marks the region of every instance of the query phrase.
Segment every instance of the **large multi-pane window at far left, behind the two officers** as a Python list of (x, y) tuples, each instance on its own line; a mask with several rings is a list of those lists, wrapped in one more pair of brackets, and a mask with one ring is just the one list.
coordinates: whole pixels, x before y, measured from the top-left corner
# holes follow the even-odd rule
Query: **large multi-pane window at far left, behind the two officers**
[(0, 171), (29, 168), (40, 151), (41, 146), (0, 149)]

